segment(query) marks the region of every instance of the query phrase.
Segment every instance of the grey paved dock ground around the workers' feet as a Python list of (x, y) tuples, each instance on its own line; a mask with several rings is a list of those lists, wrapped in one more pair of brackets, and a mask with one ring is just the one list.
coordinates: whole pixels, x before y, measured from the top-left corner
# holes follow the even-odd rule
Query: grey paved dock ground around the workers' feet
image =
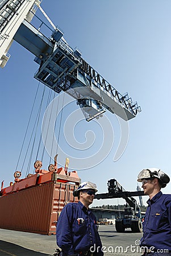
[[(139, 256), (141, 233), (116, 233), (115, 226), (99, 226), (105, 255)], [(55, 253), (56, 237), (0, 229), (0, 256), (50, 256)]]

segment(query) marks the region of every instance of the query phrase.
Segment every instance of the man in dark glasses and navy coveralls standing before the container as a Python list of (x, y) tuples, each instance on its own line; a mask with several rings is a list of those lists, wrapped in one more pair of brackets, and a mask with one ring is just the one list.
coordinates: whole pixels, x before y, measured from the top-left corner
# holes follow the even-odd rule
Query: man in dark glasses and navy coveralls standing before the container
[(78, 203), (66, 204), (56, 226), (57, 245), (60, 255), (103, 256), (98, 234), (97, 220), (89, 209), (93, 203), (97, 186), (90, 181), (81, 183), (73, 195)]

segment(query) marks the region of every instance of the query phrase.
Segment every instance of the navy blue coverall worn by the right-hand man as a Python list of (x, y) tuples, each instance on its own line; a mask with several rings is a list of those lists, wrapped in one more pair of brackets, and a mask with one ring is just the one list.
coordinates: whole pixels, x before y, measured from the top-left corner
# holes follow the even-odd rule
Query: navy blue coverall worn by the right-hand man
[(147, 204), (141, 246), (155, 251), (148, 255), (171, 255), (171, 195), (160, 191)]

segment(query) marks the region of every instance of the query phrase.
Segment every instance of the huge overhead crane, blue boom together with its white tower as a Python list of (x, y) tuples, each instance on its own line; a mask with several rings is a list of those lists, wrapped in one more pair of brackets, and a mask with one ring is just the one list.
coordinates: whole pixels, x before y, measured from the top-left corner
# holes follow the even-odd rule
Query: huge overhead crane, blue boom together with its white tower
[(0, 0), (1, 67), (9, 59), (7, 51), (14, 39), (35, 55), (39, 64), (35, 79), (56, 93), (64, 91), (75, 98), (86, 121), (101, 117), (106, 110), (126, 121), (134, 118), (141, 111), (137, 102), (132, 102), (128, 93), (120, 94), (82, 59), (81, 51), (69, 46), (63, 37), (64, 32), (53, 25), (44, 11), (53, 27), (51, 37), (47, 38), (31, 25), (35, 6), (43, 11), (38, 0)]

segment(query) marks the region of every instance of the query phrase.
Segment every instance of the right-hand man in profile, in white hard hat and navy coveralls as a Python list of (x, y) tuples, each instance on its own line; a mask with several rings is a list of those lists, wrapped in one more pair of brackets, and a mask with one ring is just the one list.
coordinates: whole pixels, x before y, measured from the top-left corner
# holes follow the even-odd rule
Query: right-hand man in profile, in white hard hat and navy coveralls
[(137, 177), (144, 194), (149, 196), (143, 222), (141, 248), (143, 255), (171, 255), (171, 195), (160, 191), (170, 178), (157, 168), (144, 169)]

